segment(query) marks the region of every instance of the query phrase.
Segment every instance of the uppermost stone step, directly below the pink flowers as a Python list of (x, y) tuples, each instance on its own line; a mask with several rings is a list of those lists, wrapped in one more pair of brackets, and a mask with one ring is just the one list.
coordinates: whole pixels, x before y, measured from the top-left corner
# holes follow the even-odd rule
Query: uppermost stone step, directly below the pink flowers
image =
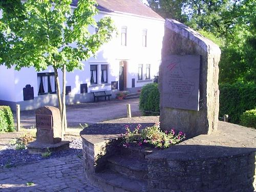
[(150, 155), (156, 151), (158, 151), (158, 149), (152, 147), (130, 146), (126, 148), (123, 147), (121, 150), (121, 155), (130, 156), (135, 159), (145, 159), (145, 156)]

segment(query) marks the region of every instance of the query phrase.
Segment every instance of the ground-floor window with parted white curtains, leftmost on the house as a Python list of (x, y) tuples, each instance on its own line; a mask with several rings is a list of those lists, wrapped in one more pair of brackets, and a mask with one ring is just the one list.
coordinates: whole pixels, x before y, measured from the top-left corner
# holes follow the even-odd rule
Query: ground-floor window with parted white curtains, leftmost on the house
[(56, 93), (54, 73), (37, 73), (38, 95)]

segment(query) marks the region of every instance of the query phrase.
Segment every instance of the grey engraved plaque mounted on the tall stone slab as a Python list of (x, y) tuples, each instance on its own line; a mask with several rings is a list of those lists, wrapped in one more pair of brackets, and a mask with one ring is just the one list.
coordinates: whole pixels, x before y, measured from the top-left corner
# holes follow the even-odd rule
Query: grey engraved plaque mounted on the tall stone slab
[(170, 55), (161, 65), (162, 106), (199, 111), (200, 55)]

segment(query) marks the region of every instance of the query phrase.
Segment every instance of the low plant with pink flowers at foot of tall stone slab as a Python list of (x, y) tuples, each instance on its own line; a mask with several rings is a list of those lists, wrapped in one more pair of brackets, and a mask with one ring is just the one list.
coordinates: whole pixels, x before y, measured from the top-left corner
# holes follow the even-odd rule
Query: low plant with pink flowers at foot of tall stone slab
[(153, 147), (159, 148), (168, 148), (171, 145), (175, 145), (182, 141), (185, 138), (185, 134), (179, 132), (175, 134), (175, 130), (171, 131), (161, 131), (160, 123), (156, 123), (154, 126), (146, 127), (145, 129), (140, 130), (141, 125), (134, 129), (134, 131), (130, 130), (128, 125), (125, 126), (125, 134), (121, 134), (122, 136), (122, 145), (127, 147), (131, 144), (136, 144), (138, 146), (150, 145)]

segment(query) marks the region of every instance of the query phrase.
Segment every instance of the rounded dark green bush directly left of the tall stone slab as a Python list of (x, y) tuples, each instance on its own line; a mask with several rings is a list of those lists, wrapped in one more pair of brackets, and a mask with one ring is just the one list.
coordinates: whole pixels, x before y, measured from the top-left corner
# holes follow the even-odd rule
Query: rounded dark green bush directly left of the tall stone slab
[(160, 114), (159, 91), (157, 83), (146, 84), (142, 87), (140, 94), (139, 109), (144, 111), (142, 112), (142, 114), (146, 116), (157, 116)]

